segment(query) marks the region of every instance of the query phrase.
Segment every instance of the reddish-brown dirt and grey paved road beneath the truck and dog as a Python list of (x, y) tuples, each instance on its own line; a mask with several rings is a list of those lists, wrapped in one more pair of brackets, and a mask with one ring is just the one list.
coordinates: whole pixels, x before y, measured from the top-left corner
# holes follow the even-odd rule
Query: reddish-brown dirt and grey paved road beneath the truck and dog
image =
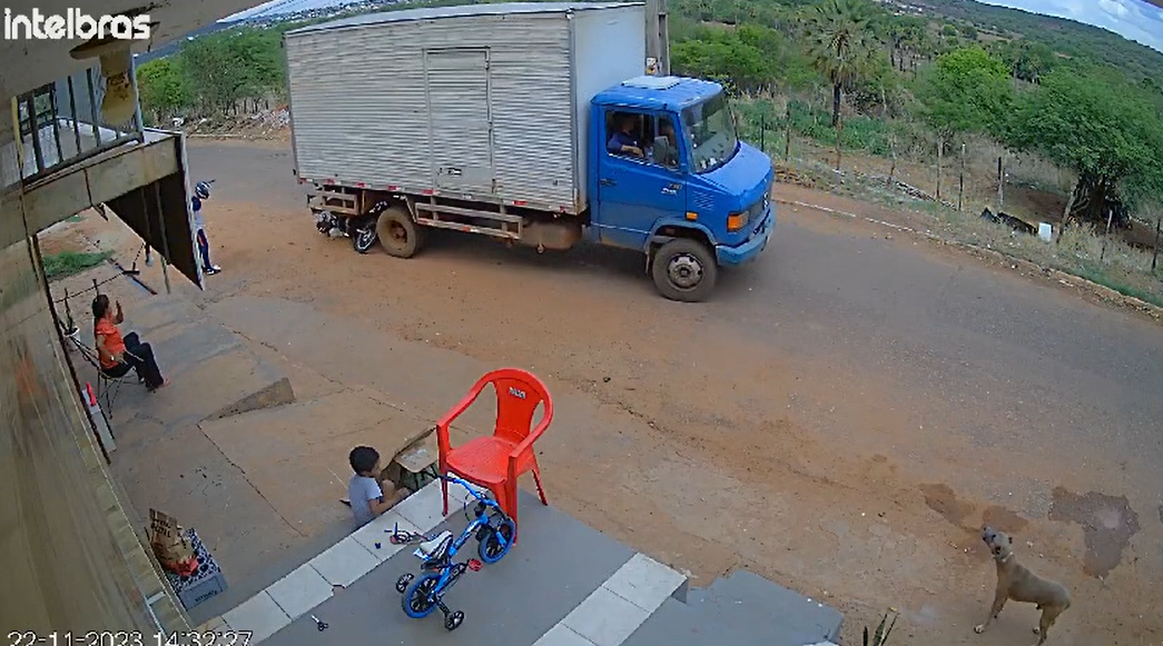
[[(408, 261), (361, 257), (314, 230), (285, 146), (197, 143), (190, 160), (217, 179), (206, 221), (226, 273), (207, 297), (311, 302), (633, 412), (649, 432), (572, 438), (602, 446), (600, 468), (547, 455), (554, 502), (697, 584), (749, 567), (841, 608), (850, 644), (890, 605), (901, 644), (1023, 644), (1033, 608), (972, 633), (993, 581), (975, 536), (987, 521), (1073, 590), (1053, 643), (1163, 643), (1149, 322), (808, 209), (783, 209), (765, 256), (694, 306), (605, 250), (538, 257), (450, 234)], [(599, 480), (619, 467), (616, 488)]]

